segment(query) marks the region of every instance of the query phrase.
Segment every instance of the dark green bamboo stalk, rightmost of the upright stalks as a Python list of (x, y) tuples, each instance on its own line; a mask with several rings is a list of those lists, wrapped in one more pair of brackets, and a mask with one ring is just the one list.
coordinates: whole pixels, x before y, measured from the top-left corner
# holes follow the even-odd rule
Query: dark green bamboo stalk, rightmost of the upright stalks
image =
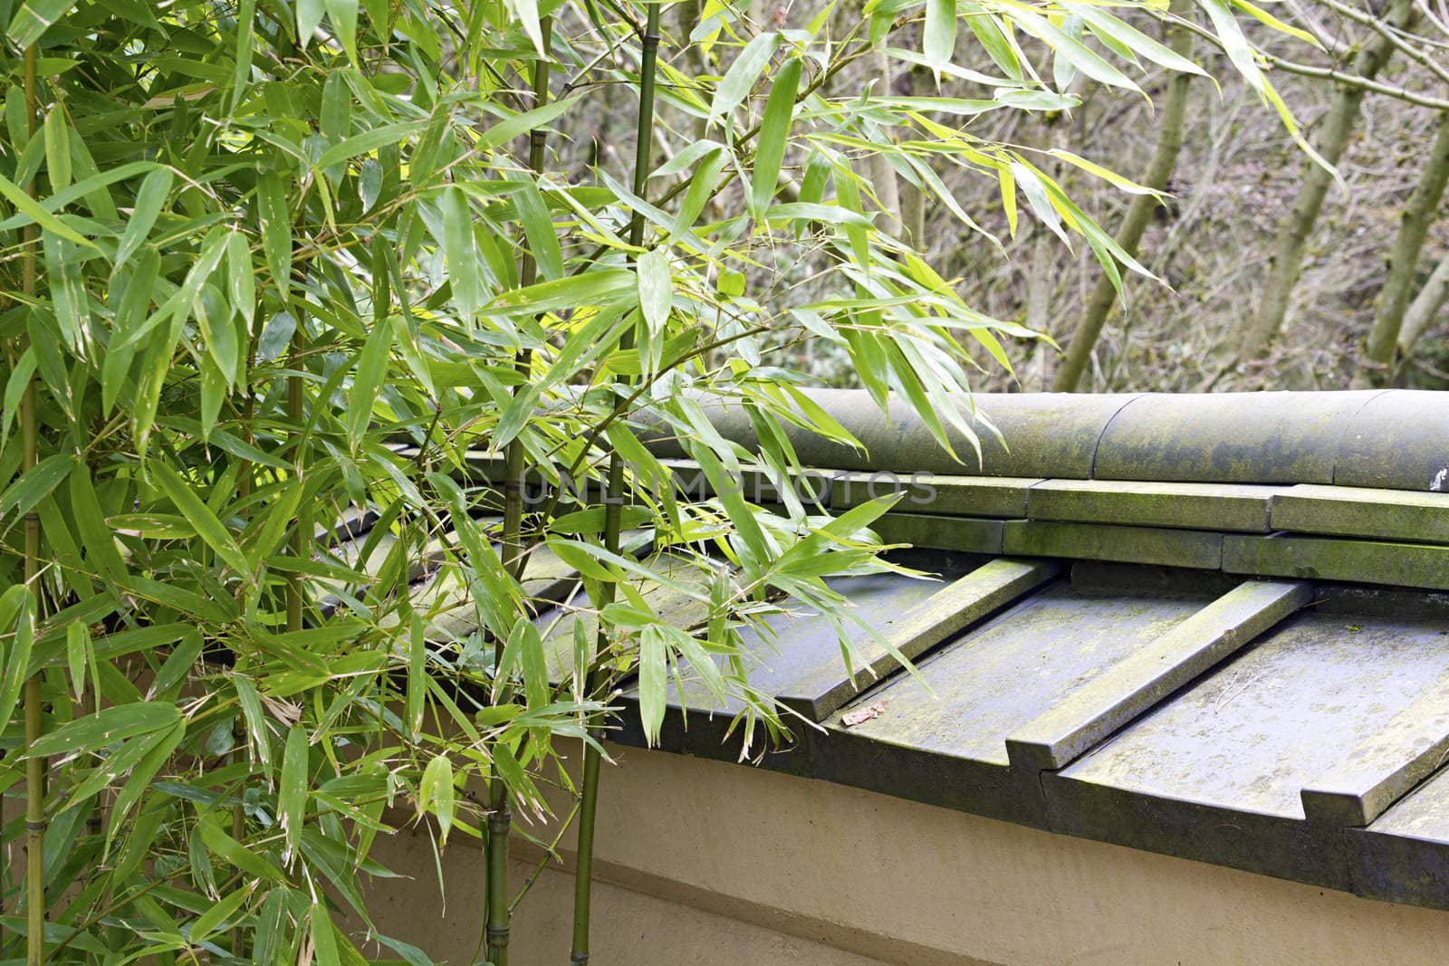
[[(653, 143), (653, 83), (655, 65), (659, 58), (659, 0), (649, 3), (645, 23), (643, 42), (639, 52), (639, 123), (635, 140), (635, 197), (646, 197), (649, 187), (649, 158)], [(629, 243), (638, 251), (643, 245), (643, 216), (635, 213), (629, 223)], [(638, 259), (638, 256), (636, 256)], [(620, 348), (627, 349), (630, 336), (620, 339)], [(609, 487), (604, 491), (604, 546), (610, 553), (619, 553), (620, 524), (623, 516), (623, 476), (625, 465), (619, 453), (609, 458)], [(614, 597), (614, 585), (604, 584), (601, 588), (604, 600), (598, 601), (603, 611)], [(603, 621), (598, 626), (600, 653), (607, 644)], [(597, 694), (609, 685), (610, 675), (603, 669), (590, 675), (588, 694)], [(596, 742), (603, 739), (603, 728), (593, 730)], [(594, 817), (598, 811), (598, 768), (600, 753), (597, 744), (584, 744), (584, 785), (578, 808), (578, 847), (574, 860), (574, 947), (569, 954), (571, 963), (588, 962), (588, 918), (590, 901), (593, 898), (594, 878)]]

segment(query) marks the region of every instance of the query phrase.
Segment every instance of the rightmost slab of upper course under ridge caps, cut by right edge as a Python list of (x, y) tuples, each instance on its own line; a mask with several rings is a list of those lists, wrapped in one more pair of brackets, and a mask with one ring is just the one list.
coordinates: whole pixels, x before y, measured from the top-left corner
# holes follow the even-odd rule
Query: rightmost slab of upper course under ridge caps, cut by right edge
[(1274, 530), (1449, 543), (1449, 492), (1291, 487), (1272, 500)]

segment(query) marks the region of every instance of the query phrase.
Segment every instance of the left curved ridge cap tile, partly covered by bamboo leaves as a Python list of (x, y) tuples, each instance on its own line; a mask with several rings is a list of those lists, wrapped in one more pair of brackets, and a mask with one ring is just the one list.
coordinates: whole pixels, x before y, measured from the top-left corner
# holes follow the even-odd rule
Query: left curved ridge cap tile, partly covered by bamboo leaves
[[(865, 390), (806, 390), (810, 398), (855, 434), (861, 452), (798, 429), (788, 437), (803, 466), (842, 471), (935, 472), (985, 476), (1055, 476), (1090, 479), (1097, 445), (1111, 419), (1135, 394), (1001, 392), (974, 397), (974, 429), (981, 455), (971, 440), (948, 429), (959, 459), (943, 450), (910, 406), (891, 395), (881, 413)], [(704, 406), (724, 439), (755, 445), (755, 430), (742, 406)], [(982, 419), (984, 417), (984, 419)], [(991, 432), (994, 426), (1000, 439)], [(661, 455), (682, 455), (677, 443), (652, 445)]]

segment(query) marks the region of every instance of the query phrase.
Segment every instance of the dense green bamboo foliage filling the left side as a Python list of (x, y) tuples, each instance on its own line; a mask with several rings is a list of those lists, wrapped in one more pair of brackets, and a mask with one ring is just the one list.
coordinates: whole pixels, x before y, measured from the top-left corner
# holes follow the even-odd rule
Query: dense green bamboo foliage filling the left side
[[(968, 130), (1075, 103), (1042, 80), (1058, 55), (1129, 93), (1133, 58), (1172, 67), (1151, 10), (1082, 7), (1091, 43), (1066, 10), (777, 30), (706, 4), (659, 58), (638, 0), (0, 4), (0, 786), (29, 847), (0, 957), (430, 962), (427, 923), (368, 898), (378, 843), (413, 831), (485, 850), (480, 952), (506, 963), (530, 814), (577, 836), (587, 959), (607, 697), (632, 681), (656, 739), (698, 685), (740, 702), (752, 753), (785, 740), (743, 630), (791, 605), (843, 630), (824, 579), (885, 566), (887, 503), (680, 492), (646, 443), (717, 485), (782, 485), (787, 427), (851, 445), (787, 372), (810, 337), (966, 449), (968, 374), (1029, 335), (890, 236), (864, 172), (978, 232), (940, 177), (961, 167), (1013, 224), (1140, 271)], [(862, 97), (881, 51), (940, 90)], [(585, 152), (625, 100), (632, 167)], [(830, 271), (791, 281), (807, 262)], [(713, 433), (711, 400), (762, 452)]]

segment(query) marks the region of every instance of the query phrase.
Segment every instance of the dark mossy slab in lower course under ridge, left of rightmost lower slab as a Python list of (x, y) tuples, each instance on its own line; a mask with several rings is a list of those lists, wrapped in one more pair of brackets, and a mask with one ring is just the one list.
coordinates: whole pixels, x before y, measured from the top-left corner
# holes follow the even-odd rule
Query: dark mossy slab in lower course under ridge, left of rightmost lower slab
[(1106, 523), (1007, 520), (1001, 549), (1017, 556), (1059, 556), (1122, 563), (1159, 563), (1216, 571), (1223, 534), (1210, 530), (1120, 527)]

